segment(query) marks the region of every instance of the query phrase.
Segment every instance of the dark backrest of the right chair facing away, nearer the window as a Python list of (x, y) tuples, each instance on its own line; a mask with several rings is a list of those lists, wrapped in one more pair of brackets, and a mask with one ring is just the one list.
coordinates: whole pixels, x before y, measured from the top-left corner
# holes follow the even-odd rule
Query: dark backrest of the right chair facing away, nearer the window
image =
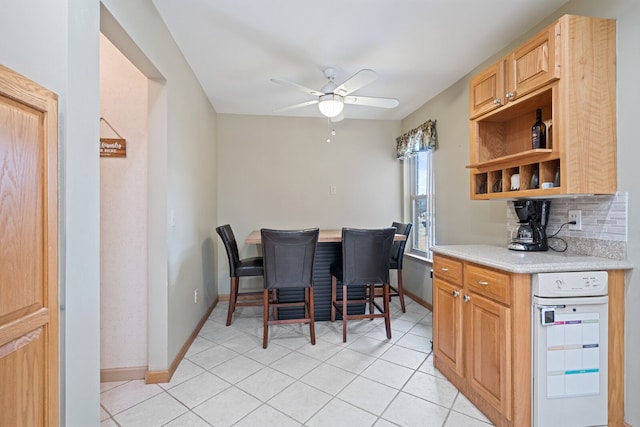
[(389, 257), (396, 229), (342, 229), (342, 283), (389, 283)]

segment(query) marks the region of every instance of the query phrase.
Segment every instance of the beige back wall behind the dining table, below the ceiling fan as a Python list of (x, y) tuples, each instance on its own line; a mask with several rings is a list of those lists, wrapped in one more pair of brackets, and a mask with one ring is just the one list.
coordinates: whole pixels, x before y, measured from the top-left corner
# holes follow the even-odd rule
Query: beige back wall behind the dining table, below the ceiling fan
[[(322, 118), (220, 114), (218, 123), (218, 223), (231, 224), (241, 256), (257, 253), (243, 240), (261, 227), (373, 228), (401, 219), (399, 121), (344, 120), (332, 126), (331, 143)], [(219, 289), (228, 294), (217, 240)]]

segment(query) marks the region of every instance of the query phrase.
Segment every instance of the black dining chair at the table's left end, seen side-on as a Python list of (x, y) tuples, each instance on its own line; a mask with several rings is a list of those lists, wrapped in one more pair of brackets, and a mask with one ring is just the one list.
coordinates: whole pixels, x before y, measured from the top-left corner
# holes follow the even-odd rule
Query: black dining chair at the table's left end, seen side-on
[[(262, 305), (261, 290), (240, 292), (240, 277), (262, 276), (264, 274), (262, 257), (251, 257), (240, 259), (238, 254), (238, 244), (233, 235), (233, 230), (229, 224), (216, 228), (216, 232), (224, 243), (229, 260), (229, 309), (227, 311), (227, 326), (231, 325), (231, 317), (236, 307), (259, 307)], [(238, 301), (238, 296), (241, 297)], [(249, 297), (249, 299), (244, 299)]]

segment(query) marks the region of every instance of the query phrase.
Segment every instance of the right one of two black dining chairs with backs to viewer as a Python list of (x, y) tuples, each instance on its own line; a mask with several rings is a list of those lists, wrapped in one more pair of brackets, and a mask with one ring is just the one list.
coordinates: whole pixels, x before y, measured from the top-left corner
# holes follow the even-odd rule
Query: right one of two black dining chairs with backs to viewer
[[(384, 318), (387, 338), (391, 339), (389, 316), (389, 255), (395, 237), (393, 227), (381, 229), (342, 229), (342, 262), (332, 263), (331, 321), (336, 313), (342, 316), (342, 341), (347, 342), (347, 321)], [(337, 283), (342, 283), (342, 298), (338, 301)], [(375, 287), (382, 286), (383, 306), (375, 301)], [(362, 298), (348, 297), (348, 288), (365, 288)], [(349, 314), (348, 307), (365, 304), (369, 313)], [(378, 309), (376, 313), (374, 308)]]

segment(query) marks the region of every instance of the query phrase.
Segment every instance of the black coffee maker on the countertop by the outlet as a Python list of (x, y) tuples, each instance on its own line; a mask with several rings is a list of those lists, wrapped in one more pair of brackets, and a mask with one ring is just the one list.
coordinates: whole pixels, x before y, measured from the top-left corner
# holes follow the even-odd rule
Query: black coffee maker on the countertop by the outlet
[(514, 251), (547, 251), (547, 223), (550, 200), (519, 199), (513, 201), (518, 215), (518, 227), (511, 235), (507, 248)]

